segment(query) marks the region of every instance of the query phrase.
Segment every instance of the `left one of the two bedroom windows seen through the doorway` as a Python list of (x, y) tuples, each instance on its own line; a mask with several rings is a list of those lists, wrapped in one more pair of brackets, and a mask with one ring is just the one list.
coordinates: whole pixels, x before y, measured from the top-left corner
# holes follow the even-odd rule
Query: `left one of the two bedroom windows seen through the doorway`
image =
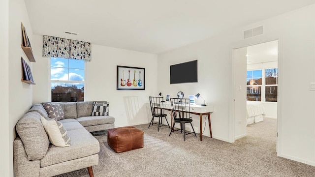
[(262, 70), (247, 71), (247, 100), (261, 101)]

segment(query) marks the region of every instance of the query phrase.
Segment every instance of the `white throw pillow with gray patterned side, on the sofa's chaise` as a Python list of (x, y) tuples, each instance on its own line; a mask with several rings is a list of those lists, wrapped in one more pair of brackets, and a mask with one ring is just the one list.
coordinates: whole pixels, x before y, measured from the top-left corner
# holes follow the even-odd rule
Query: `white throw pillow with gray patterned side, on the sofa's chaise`
[(63, 128), (63, 124), (52, 118), (40, 117), (40, 121), (44, 125), (49, 141), (57, 147), (69, 147), (70, 137)]

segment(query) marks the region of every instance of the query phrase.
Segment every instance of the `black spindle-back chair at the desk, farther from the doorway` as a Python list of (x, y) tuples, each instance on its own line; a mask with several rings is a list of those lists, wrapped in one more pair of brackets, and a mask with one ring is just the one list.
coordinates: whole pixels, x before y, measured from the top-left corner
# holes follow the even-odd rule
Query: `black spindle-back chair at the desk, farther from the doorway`
[(165, 118), (168, 127), (171, 128), (168, 124), (167, 119), (166, 119), (167, 114), (163, 113), (163, 109), (162, 109), (163, 108), (163, 102), (164, 102), (163, 97), (149, 96), (149, 100), (150, 100), (150, 106), (151, 106), (152, 119), (151, 119), (151, 122), (150, 122), (148, 128), (150, 128), (151, 124), (152, 125), (154, 124), (153, 123), (154, 118), (158, 118), (158, 123), (155, 123), (155, 124), (158, 124), (158, 131), (159, 131), (159, 127), (166, 126), (166, 125), (162, 124), (162, 118)]

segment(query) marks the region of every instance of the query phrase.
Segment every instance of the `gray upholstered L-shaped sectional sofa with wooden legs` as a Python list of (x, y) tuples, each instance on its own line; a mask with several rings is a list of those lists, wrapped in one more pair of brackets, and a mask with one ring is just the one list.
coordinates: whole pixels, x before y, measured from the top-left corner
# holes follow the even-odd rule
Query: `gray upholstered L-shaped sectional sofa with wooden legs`
[(49, 143), (41, 117), (48, 117), (42, 104), (32, 108), (17, 122), (13, 142), (15, 177), (52, 177), (98, 165), (99, 142), (90, 132), (114, 128), (115, 118), (91, 116), (93, 101), (59, 103), (63, 109), (62, 123), (70, 137), (69, 147)]

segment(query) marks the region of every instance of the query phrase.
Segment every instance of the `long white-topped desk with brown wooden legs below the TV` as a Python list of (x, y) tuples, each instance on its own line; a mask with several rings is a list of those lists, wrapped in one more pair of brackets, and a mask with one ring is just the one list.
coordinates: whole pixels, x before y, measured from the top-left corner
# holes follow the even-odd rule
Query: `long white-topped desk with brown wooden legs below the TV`
[[(164, 102), (163, 103), (163, 109), (171, 111), (171, 125), (173, 125), (173, 114), (172, 114), (171, 103)], [(200, 120), (199, 120), (200, 121), (200, 141), (202, 141), (202, 116), (204, 116), (204, 115), (208, 116), (210, 137), (212, 138), (210, 113), (214, 112), (214, 107), (213, 106), (190, 105), (190, 111), (189, 112), (191, 114), (194, 114), (194, 115), (199, 115), (199, 118), (200, 118)]]

